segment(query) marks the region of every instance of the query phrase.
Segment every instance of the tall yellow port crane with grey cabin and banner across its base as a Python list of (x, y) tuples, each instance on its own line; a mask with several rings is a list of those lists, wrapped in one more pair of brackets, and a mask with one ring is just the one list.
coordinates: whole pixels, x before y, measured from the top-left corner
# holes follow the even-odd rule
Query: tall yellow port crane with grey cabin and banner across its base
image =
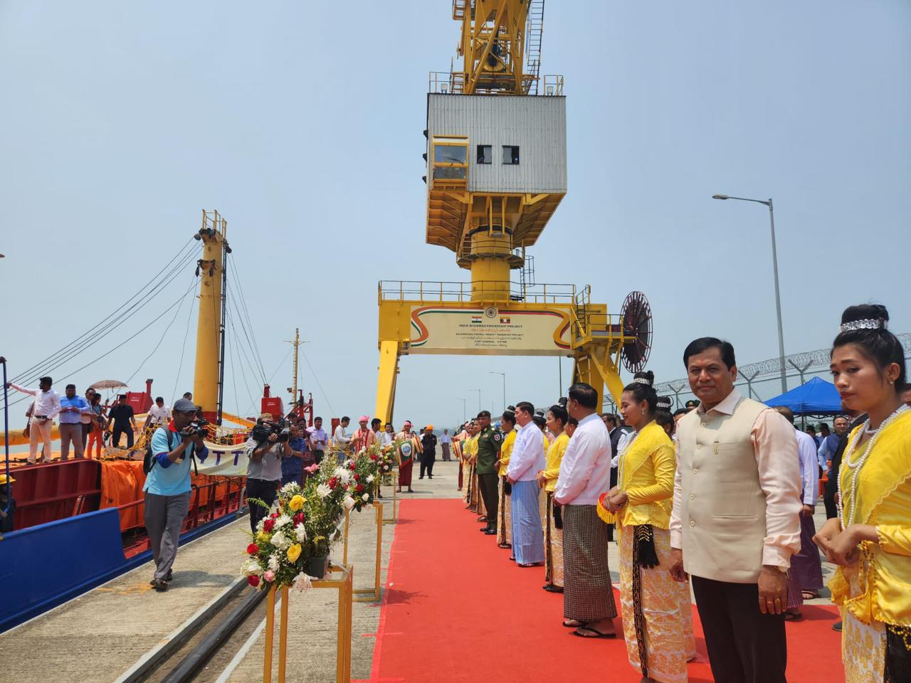
[(588, 286), (537, 284), (526, 252), (567, 191), (563, 77), (539, 73), (544, 0), (452, 11), (462, 65), (429, 78), (425, 240), (455, 252), (471, 282), (380, 282), (375, 414), (392, 419), (399, 359), (415, 353), (568, 356), (574, 382), (619, 402), (620, 359), (630, 372), (648, 360), (645, 296), (609, 314)]

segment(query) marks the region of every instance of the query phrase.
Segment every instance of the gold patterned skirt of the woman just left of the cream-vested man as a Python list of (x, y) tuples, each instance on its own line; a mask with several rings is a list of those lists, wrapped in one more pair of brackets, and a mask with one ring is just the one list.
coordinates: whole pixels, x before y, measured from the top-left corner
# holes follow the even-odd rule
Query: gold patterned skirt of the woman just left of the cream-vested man
[(630, 666), (660, 683), (685, 683), (687, 660), (696, 655), (690, 584), (668, 573), (667, 529), (652, 527), (659, 565), (635, 565), (635, 530), (619, 527), (620, 606)]

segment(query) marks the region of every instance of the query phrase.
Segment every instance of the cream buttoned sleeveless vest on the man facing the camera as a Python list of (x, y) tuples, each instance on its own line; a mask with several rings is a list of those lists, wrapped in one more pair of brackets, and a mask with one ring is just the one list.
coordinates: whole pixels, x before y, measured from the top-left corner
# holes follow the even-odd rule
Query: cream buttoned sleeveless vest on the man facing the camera
[(759, 579), (765, 494), (751, 433), (764, 410), (741, 398), (730, 415), (691, 411), (678, 424), (683, 568), (693, 576), (741, 584)]

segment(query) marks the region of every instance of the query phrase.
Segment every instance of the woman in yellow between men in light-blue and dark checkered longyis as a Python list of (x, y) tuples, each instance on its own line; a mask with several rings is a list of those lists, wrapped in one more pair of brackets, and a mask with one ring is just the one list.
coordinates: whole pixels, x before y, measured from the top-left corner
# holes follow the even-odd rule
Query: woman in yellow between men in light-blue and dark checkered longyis
[(550, 407), (547, 415), (548, 431), (554, 434), (554, 441), (548, 446), (547, 463), (537, 473), (537, 484), (547, 495), (544, 515), (544, 580), (543, 587), (551, 593), (563, 592), (563, 516), (558, 505), (554, 505), (554, 488), (560, 475), (560, 463), (566, 453), (569, 437), (565, 427), (569, 419), (562, 405)]

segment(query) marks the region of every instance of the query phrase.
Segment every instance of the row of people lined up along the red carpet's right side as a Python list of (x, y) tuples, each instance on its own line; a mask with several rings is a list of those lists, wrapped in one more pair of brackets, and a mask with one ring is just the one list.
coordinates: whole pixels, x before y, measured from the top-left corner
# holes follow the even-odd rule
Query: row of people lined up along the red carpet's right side
[[(452, 438), (466, 509), (516, 566), (543, 568), (572, 635), (617, 637), (619, 615), (643, 681), (687, 680), (694, 596), (716, 680), (783, 682), (784, 623), (819, 596), (821, 553), (846, 680), (911, 680), (911, 389), (887, 323), (882, 306), (844, 311), (832, 373), (848, 417), (818, 443), (741, 394), (734, 349), (714, 337), (683, 352), (696, 399), (674, 413), (651, 372), (624, 387), (619, 416), (599, 415), (585, 383), (547, 411), (508, 406), (498, 429), (482, 411)], [(834, 514), (826, 487), (816, 530), (821, 470)]]

